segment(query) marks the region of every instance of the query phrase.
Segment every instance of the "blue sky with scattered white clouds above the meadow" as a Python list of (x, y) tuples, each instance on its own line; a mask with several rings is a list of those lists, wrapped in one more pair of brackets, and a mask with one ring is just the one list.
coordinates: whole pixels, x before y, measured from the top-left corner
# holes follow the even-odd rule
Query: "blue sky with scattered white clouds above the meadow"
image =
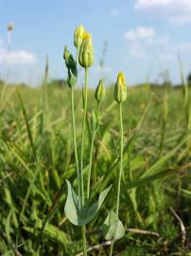
[[(14, 23), (10, 50), (9, 22)], [(39, 84), (46, 54), (49, 78), (65, 79), (63, 47), (75, 54), (78, 25), (93, 36), (91, 86), (101, 77), (114, 82), (120, 70), (130, 85), (160, 81), (165, 70), (172, 82), (180, 82), (178, 54), (185, 76), (191, 71), (191, 0), (0, 0), (0, 79)]]

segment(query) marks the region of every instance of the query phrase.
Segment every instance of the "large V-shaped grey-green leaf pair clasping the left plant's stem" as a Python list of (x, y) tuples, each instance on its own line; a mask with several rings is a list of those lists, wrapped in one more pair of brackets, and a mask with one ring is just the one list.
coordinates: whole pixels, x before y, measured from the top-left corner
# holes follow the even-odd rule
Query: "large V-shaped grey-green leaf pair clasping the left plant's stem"
[(69, 219), (69, 221), (76, 226), (85, 226), (89, 222), (91, 222), (100, 210), (107, 194), (110, 192), (112, 185), (108, 187), (106, 190), (101, 192), (98, 197), (98, 201), (92, 205), (84, 204), (80, 207), (78, 195), (72, 189), (72, 186), (68, 180), (68, 195), (65, 203), (65, 215)]

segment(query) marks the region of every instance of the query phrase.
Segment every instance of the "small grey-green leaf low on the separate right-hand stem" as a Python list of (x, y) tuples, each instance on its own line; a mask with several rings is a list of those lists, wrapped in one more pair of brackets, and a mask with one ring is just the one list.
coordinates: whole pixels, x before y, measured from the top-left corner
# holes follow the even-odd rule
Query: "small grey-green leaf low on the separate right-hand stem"
[(108, 213), (102, 230), (106, 240), (119, 240), (125, 234), (125, 228), (113, 210)]

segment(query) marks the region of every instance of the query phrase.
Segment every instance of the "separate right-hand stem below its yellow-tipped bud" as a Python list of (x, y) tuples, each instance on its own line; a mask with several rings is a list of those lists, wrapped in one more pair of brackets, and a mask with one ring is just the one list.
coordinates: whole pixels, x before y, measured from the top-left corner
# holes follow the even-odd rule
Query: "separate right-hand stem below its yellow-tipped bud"
[[(120, 202), (120, 192), (121, 192), (121, 175), (123, 171), (123, 116), (122, 116), (122, 102), (119, 104), (119, 116), (120, 116), (120, 128), (121, 128), (121, 149), (120, 149), (120, 168), (119, 168), (119, 177), (118, 177), (118, 186), (117, 186), (117, 200), (116, 200), (116, 219), (118, 219), (119, 214), (119, 202)], [(111, 245), (110, 256), (113, 255), (113, 245)]]

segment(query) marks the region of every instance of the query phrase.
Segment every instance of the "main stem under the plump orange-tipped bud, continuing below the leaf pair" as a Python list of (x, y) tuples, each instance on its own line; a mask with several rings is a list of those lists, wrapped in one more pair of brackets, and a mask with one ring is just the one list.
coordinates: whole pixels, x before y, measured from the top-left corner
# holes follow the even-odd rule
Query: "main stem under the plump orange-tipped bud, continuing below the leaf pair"
[[(87, 103), (88, 103), (88, 68), (85, 68), (85, 95), (84, 95), (84, 111), (83, 111), (83, 122), (82, 122), (82, 132), (81, 132), (81, 152), (80, 152), (80, 189), (81, 198), (80, 204), (84, 205), (84, 187), (83, 187), (83, 145), (84, 145), (84, 135), (85, 135), (85, 124), (87, 116)], [(86, 251), (86, 235), (85, 226), (82, 227), (82, 240), (83, 240), (83, 254), (87, 255)]]

